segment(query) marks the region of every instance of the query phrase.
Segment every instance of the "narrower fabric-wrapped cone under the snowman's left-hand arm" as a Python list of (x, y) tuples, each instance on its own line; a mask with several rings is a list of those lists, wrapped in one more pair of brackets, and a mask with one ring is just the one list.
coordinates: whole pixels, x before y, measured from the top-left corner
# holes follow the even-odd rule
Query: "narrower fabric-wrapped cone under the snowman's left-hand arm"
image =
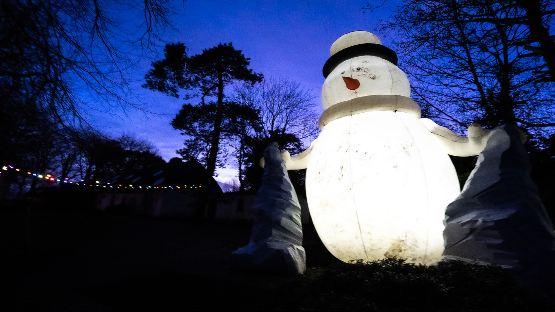
[(302, 248), (301, 207), (278, 143), (264, 150), (266, 168), (262, 186), (251, 209), (253, 232), (249, 244), (233, 252), (234, 265), (244, 270), (302, 274), (306, 270)]

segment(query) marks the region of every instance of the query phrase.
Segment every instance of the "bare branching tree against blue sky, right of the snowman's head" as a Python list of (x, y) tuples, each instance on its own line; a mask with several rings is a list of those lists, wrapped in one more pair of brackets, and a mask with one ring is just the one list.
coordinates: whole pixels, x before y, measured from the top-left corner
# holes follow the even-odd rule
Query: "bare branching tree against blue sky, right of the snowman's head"
[[(549, 29), (554, 3), (538, 3)], [(411, 0), (392, 18), (380, 29), (397, 32), (401, 68), (427, 117), (461, 131), (471, 122), (512, 123), (537, 136), (555, 125), (555, 86), (538, 79), (548, 58), (527, 55), (524, 43), (538, 36), (518, 2)]]

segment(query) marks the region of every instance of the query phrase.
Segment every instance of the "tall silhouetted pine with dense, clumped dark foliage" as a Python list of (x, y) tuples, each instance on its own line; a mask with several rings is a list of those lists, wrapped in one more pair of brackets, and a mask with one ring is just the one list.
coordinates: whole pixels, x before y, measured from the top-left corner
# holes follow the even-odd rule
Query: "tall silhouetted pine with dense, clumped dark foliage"
[[(225, 125), (238, 117), (238, 112), (230, 109), (231, 102), (224, 101), (224, 88), (236, 81), (254, 84), (263, 76), (247, 68), (250, 59), (235, 50), (231, 43), (220, 43), (192, 57), (186, 55), (183, 43), (167, 44), (164, 52), (164, 59), (152, 63), (143, 87), (173, 97), (178, 97), (179, 89), (185, 89), (190, 91), (185, 98), (200, 97), (196, 105), (184, 104), (171, 125), (189, 136), (185, 148), (178, 152), (185, 158), (198, 158), (208, 172), (214, 174), (220, 139), (228, 132)], [(215, 97), (216, 102), (206, 103), (206, 97)]]

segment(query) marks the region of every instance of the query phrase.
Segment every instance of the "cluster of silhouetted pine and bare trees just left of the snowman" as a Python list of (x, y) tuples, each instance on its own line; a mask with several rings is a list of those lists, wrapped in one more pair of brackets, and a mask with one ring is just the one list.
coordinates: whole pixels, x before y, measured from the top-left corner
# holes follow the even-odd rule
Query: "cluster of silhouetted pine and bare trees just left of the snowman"
[[(164, 52), (143, 87), (173, 97), (181, 90), (186, 100), (193, 100), (171, 122), (186, 137), (177, 152), (199, 160), (210, 173), (235, 162), (238, 190), (258, 190), (263, 173), (259, 160), (270, 142), (298, 153), (301, 140), (319, 132), (310, 90), (294, 80), (254, 73), (248, 68), (250, 59), (232, 43), (190, 57), (183, 43), (167, 44)], [(290, 177), (302, 191), (304, 174), (291, 172)]]

